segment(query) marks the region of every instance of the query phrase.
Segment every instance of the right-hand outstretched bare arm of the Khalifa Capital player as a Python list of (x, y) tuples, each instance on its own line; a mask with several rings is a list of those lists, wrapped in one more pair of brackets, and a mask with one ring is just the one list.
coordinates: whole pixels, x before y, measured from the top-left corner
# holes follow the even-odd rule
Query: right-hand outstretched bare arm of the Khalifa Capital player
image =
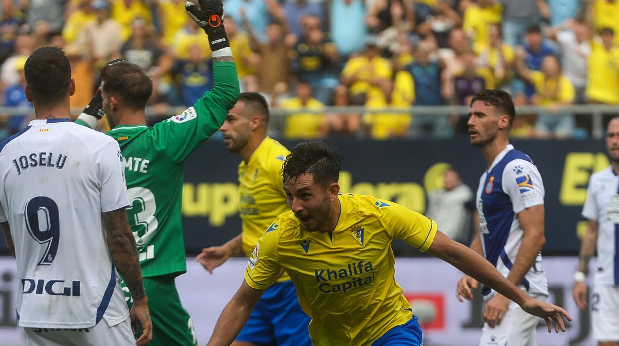
[(548, 332), (552, 331), (553, 321), (556, 332), (559, 332), (559, 329), (565, 332), (565, 322), (561, 316), (565, 316), (568, 321), (572, 320), (565, 309), (543, 301), (534, 300), (526, 295), (516, 285), (505, 279), (485, 258), (475, 253), (472, 249), (449, 239), (441, 231), (436, 232), (436, 237), (430, 248), (428, 248), (427, 253), (449, 262), (449, 264), (462, 270), (465, 274), (479, 280), (484, 285), (506, 296), (509, 300), (516, 302), (527, 313), (539, 316), (546, 321)]

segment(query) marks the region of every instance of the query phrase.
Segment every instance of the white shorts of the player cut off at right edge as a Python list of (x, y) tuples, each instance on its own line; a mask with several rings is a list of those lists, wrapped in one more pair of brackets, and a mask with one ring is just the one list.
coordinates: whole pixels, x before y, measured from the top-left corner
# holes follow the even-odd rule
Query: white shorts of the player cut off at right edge
[(619, 286), (595, 282), (590, 304), (593, 338), (619, 341)]

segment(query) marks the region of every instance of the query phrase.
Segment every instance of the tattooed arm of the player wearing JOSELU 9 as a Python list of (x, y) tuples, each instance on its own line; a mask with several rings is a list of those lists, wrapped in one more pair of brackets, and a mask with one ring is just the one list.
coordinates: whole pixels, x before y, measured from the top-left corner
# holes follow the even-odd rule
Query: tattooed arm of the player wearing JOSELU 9
[(152, 340), (152, 321), (148, 307), (148, 298), (142, 283), (142, 268), (137, 255), (136, 239), (131, 231), (125, 207), (102, 213), (108, 249), (116, 270), (133, 297), (131, 322), (136, 331), (137, 324), (142, 327), (142, 335), (137, 339), (138, 345), (146, 345)]

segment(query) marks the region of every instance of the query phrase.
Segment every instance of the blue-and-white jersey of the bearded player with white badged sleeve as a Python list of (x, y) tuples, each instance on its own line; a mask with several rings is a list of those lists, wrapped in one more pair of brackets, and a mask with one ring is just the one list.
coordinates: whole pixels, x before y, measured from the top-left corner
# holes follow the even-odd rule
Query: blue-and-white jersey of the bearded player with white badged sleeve
[[(516, 262), (524, 230), (518, 213), (534, 205), (543, 204), (542, 176), (530, 157), (508, 145), (492, 162), (479, 180), (477, 211), (483, 253), (496, 269), (507, 277)], [(546, 275), (542, 268), (542, 254), (521, 282), (530, 295), (548, 295)], [(482, 288), (488, 296), (489, 287)]]

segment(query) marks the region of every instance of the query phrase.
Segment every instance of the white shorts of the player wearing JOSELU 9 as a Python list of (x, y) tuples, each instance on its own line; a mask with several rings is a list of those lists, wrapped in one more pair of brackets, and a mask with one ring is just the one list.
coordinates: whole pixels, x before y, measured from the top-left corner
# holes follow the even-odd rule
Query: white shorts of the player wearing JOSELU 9
[(131, 319), (110, 327), (101, 320), (97, 326), (80, 329), (24, 328), (28, 346), (124, 346), (136, 345)]

